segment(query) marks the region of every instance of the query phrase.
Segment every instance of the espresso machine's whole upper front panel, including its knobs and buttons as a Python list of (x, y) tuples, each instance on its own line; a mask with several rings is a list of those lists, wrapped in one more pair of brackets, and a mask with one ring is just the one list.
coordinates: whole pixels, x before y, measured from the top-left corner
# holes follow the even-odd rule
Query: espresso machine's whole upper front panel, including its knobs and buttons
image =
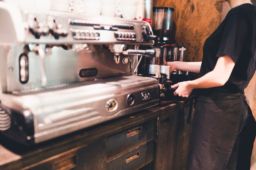
[[(77, 13), (64, 13), (60, 11), (20, 11), (20, 17), (13, 17), (9, 10), (9, 18), (17, 25), (13, 29), (12, 39), (0, 37), (0, 42), (13, 42), (25, 44), (142, 44), (151, 46), (154, 40), (150, 39), (151, 26), (144, 21), (128, 20), (115, 17), (88, 17)], [(16, 15), (16, 14), (15, 14)], [(22, 24), (23, 23), (23, 24)], [(23, 25), (23, 26), (18, 26)], [(5, 27), (0, 31), (4, 32)], [(146, 32), (147, 36), (142, 34)], [(149, 38), (148, 38), (149, 37)], [(19, 38), (19, 39), (18, 39)]]

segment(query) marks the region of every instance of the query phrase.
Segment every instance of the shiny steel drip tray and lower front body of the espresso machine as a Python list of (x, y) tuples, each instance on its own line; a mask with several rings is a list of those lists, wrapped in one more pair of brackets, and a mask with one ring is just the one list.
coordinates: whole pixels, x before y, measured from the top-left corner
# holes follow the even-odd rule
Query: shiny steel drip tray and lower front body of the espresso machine
[[(147, 100), (142, 92), (150, 92)], [(99, 124), (135, 111), (154, 106), (158, 101), (157, 80), (149, 77), (126, 76), (84, 82), (59, 90), (41, 93), (4, 94), (2, 104), (23, 114), (34, 115), (35, 142), (39, 143), (76, 130)], [(127, 104), (127, 96), (135, 96), (135, 104)], [(118, 102), (117, 110), (109, 112), (106, 103)]]

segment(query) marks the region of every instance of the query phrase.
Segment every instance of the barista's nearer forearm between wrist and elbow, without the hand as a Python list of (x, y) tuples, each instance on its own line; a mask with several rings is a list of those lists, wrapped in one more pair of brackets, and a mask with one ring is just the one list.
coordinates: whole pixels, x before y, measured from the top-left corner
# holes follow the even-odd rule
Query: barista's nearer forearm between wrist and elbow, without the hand
[(195, 79), (193, 81), (188, 81), (189, 88), (212, 88), (223, 86), (229, 77), (225, 75), (221, 75), (221, 73), (216, 73), (216, 71), (211, 71), (200, 77), (199, 79)]

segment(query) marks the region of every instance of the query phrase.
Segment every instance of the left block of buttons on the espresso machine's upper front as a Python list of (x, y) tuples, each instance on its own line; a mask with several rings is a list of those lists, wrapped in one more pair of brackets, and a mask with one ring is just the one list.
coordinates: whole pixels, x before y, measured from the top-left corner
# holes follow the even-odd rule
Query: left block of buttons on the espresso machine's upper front
[(75, 40), (99, 40), (100, 33), (83, 29), (71, 29)]

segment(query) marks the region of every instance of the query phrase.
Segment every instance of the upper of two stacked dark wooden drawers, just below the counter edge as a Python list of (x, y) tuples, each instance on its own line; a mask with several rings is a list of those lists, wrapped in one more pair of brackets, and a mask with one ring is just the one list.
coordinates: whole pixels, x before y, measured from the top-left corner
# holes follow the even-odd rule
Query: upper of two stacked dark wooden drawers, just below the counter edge
[(121, 155), (132, 148), (155, 139), (155, 133), (156, 121), (152, 120), (108, 137), (107, 159), (109, 160), (113, 157), (117, 157), (118, 155)]

